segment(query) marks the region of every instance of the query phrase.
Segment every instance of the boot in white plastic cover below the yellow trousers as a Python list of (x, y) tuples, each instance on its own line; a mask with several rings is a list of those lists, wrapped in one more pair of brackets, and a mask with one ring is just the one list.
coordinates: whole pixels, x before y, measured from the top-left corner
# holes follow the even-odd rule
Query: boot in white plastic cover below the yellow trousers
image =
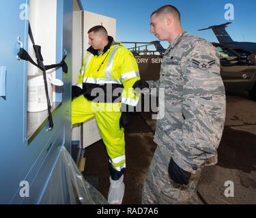
[(113, 180), (111, 176), (109, 177), (110, 187), (108, 194), (109, 204), (122, 204), (124, 198), (124, 175), (122, 175), (118, 180)]

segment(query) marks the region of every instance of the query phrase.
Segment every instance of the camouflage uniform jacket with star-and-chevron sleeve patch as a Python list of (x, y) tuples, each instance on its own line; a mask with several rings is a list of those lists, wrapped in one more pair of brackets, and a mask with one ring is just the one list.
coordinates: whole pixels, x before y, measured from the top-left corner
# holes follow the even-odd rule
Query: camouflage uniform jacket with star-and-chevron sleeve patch
[(217, 162), (225, 122), (225, 89), (218, 51), (210, 42), (181, 33), (165, 51), (157, 81), (164, 88), (154, 142), (171, 153), (178, 166), (195, 173)]

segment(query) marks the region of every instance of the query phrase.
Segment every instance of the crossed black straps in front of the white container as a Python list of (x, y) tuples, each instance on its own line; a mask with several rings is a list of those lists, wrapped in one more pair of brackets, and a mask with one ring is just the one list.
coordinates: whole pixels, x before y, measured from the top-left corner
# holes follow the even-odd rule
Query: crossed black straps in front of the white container
[(43, 59), (42, 53), (41, 53), (41, 46), (35, 45), (35, 41), (33, 39), (33, 33), (31, 31), (30, 23), (29, 23), (29, 37), (30, 37), (30, 40), (33, 44), (33, 49), (35, 51), (35, 57), (36, 57), (36, 60), (37, 60), (38, 63), (35, 63), (33, 61), (33, 59), (29, 56), (27, 51), (24, 50), (23, 48), (20, 48), (20, 51), (18, 52), (18, 57), (20, 57), (20, 59), (23, 59), (25, 61), (29, 61), (31, 64), (35, 65), (36, 67), (38, 67), (39, 69), (42, 70), (43, 77), (44, 77), (44, 89), (45, 89), (46, 99), (47, 99), (49, 129), (52, 129), (53, 128), (53, 116), (52, 116), (52, 113), (51, 113), (51, 102), (50, 102), (50, 98), (49, 98), (49, 94), (48, 94), (46, 70), (62, 67), (63, 72), (65, 72), (67, 74), (68, 73), (68, 65), (64, 61), (66, 59), (67, 55), (65, 55), (63, 57), (63, 59), (61, 60), (60, 63), (44, 66), (44, 62), (43, 62), (44, 59)]

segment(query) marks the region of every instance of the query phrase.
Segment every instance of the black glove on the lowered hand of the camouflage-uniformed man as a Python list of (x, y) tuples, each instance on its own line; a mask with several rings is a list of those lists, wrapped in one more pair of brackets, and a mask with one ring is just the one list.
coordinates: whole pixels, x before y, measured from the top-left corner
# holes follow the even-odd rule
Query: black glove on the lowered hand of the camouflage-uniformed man
[(178, 183), (180, 185), (188, 185), (191, 173), (186, 172), (185, 170), (177, 166), (172, 158), (169, 163), (168, 172), (175, 183)]

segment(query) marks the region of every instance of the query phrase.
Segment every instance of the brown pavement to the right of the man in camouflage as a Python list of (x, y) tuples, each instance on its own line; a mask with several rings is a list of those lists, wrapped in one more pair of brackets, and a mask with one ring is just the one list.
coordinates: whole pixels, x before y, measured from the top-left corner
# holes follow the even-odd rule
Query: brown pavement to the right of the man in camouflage
[(255, 108), (256, 102), (246, 93), (227, 95), (218, 163), (203, 170), (198, 187), (208, 204), (256, 204)]

